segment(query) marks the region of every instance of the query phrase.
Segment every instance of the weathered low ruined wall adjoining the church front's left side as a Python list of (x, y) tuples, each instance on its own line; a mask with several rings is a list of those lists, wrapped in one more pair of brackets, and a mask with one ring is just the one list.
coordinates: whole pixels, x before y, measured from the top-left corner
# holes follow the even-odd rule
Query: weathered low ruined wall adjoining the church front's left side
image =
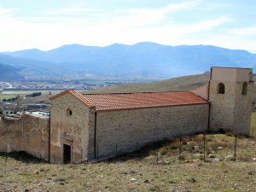
[(49, 158), (49, 119), (22, 115), (20, 119), (0, 120), (0, 151), (26, 151), (38, 158)]

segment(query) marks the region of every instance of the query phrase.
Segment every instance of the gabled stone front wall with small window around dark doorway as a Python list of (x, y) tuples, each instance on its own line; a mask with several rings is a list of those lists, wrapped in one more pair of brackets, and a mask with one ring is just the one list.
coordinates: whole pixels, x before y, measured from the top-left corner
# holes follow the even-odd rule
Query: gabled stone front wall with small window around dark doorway
[[(69, 113), (69, 109), (72, 114)], [(66, 94), (53, 100), (50, 125), (50, 162), (63, 163), (63, 144), (72, 147), (72, 162), (88, 160), (88, 154), (93, 153), (90, 151), (93, 150), (93, 146), (88, 145), (91, 134), (89, 127), (93, 127), (90, 124), (89, 108), (75, 96)]]

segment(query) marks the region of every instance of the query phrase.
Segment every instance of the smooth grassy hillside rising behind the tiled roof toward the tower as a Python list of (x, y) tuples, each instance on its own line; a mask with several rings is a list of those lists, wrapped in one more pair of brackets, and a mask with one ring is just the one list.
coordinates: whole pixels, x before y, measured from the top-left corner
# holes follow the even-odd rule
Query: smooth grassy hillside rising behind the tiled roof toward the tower
[(111, 93), (111, 92), (158, 92), (173, 90), (194, 90), (207, 84), (210, 73), (190, 75), (174, 79), (167, 79), (148, 84), (123, 84), (116, 86), (102, 87), (91, 90), (93, 93)]

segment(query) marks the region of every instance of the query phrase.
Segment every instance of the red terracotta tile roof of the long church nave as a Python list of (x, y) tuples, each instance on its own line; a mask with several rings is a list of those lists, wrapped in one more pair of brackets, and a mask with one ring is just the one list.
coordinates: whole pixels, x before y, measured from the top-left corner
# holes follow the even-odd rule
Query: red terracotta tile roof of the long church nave
[(190, 91), (108, 94), (80, 94), (76, 90), (66, 90), (64, 92), (51, 97), (51, 100), (70, 93), (88, 107), (96, 108), (96, 111), (208, 103)]

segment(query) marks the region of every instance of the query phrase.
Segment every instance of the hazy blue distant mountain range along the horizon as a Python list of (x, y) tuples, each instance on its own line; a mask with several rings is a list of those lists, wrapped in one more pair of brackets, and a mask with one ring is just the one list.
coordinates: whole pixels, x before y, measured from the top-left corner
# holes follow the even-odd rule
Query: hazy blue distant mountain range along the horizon
[(171, 78), (209, 71), (210, 67), (252, 67), (256, 55), (212, 45), (169, 46), (154, 43), (112, 44), (106, 47), (64, 45), (41, 51), (0, 53), (0, 63), (20, 68), (26, 76), (61, 74), (143, 75)]

